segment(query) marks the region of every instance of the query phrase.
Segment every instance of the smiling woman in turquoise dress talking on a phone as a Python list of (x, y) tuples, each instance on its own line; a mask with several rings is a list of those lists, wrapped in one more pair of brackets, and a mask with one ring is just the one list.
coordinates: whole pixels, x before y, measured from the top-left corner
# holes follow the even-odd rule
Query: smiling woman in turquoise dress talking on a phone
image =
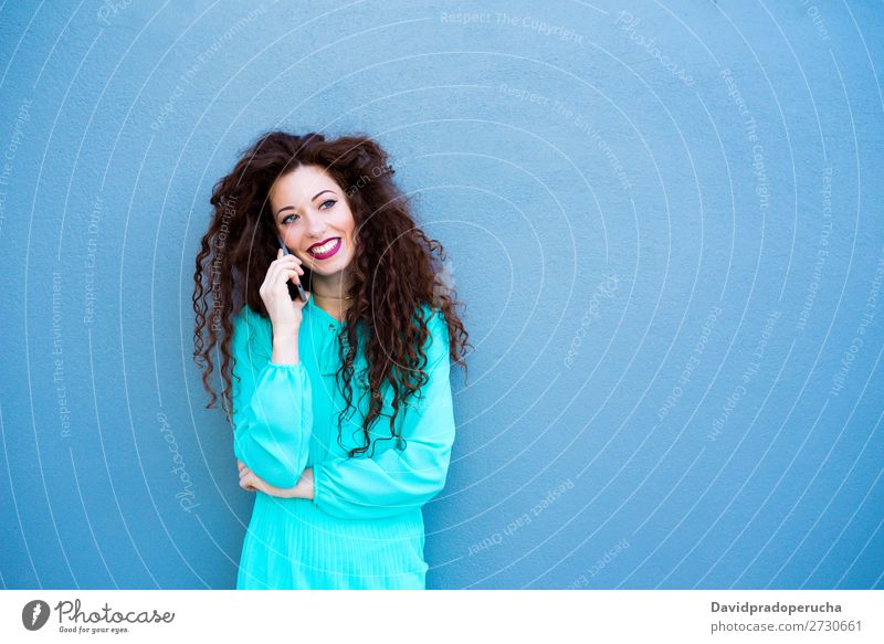
[(421, 507), (445, 484), (469, 336), (392, 175), (368, 137), (273, 131), (212, 192), (194, 357), (212, 408), (220, 347), (256, 493), (238, 589), (425, 588)]

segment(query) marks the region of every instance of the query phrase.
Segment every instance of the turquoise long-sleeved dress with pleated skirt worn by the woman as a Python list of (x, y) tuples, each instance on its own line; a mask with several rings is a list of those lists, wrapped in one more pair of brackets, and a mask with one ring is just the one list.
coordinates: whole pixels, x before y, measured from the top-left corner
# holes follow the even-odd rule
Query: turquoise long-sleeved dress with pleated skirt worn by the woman
[(270, 319), (248, 305), (236, 316), (233, 452), (276, 487), (294, 487), (306, 467), (314, 473), (313, 499), (254, 493), (236, 589), (425, 588), (421, 507), (445, 485), (455, 427), (445, 318), (427, 305), (421, 312), (430, 329), (430, 380), (399, 409), (396, 427), (404, 442), (390, 437), (392, 394), (382, 390), (371, 437), (388, 440), (376, 443), (373, 454), (349, 460), (347, 450), (364, 445), (368, 411), (361, 345), (352, 379), (356, 411), (343, 416), (341, 446), (337, 416), (346, 401), (336, 373), (343, 323), (311, 297), (298, 331), (299, 362), (276, 365)]

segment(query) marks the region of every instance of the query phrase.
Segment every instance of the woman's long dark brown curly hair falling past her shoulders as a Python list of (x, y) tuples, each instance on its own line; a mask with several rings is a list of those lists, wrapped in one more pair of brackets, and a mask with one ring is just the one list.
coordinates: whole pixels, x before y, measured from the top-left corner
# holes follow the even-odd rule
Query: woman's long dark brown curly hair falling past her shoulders
[[(230, 175), (215, 183), (210, 199), (211, 222), (193, 274), (193, 359), (203, 370), (202, 383), (211, 395), (207, 409), (211, 409), (219, 398), (210, 383), (212, 352), (215, 346), (220, 348), (221, 404), (230, 422), (232, 320), (245, 304), (269, 317), (259, 288), (278, 247), (270, 189), (276, 179), (299, 166), (317, 166), (328, 173), (346, 196), (355, 221), (358, 241), (348, 266), (352, 277), (348, 295), (352, 299), (338, 336), (341, 366), (336, 376), (343, 379), (347, 411), (352, 407), (357, 326), (362, 325), (368, 363), (362, 382), (368, 381), (365, 387), (370, 404), (362, 423), (365, 444), (348, 451), (352, 457), (371, 445), (369, 431), (383, 405), (381, 387), (388, 383), (394, 393), (390, 436), (383, 437), (390, 440), (397, 437), (393, 423), (401, 405), (429, 380), (427, 356), (421, 350), (429, 336), (429, 320), (415, 316), (421, 304), (444, 313), (450, 358), (464, 370), (470, 346), (455, 310), (461, 303), (454, 298), (442, 244), (428, 237), (414, 222), (408, 198), (393, 183), (394, 169), (387, 152), (371, 138), (357, 135), (326, 140), (316, 133), (297, 136), (269, 131), (241, 154)], [(309, 285), (311, 270), (306, 264), (302, 267), (302, 283)], [(383, 287), (372, 288), (372, 284)], [(339, 444), (343, 414), (338, 416)]]

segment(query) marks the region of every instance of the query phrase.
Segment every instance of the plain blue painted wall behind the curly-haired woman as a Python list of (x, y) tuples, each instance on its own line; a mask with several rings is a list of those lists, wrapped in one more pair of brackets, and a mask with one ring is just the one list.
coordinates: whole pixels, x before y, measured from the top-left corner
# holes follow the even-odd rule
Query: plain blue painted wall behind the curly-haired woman
[(233, 587), (253, 497), (190, 359), (193, 258), (282, 127), (376, 136), (467, 305), (430, 587), (884, 588), (882, 28), (4, 3), (3, 587)]

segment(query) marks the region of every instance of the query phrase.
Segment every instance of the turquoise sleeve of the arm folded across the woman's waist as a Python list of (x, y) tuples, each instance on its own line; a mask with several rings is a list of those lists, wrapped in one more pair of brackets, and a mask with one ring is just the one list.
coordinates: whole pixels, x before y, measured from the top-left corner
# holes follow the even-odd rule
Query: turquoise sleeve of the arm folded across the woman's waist
[(449, 335), (441, 313), (433, 314), (428, 326), (429, 381), (399, 410), (404, 448), (390, 444), (372, 457), (315, 464), (314, 503), (325, 513), (354, 519), (390, 517), (423, 506), (444, 487), (455, 435)]

